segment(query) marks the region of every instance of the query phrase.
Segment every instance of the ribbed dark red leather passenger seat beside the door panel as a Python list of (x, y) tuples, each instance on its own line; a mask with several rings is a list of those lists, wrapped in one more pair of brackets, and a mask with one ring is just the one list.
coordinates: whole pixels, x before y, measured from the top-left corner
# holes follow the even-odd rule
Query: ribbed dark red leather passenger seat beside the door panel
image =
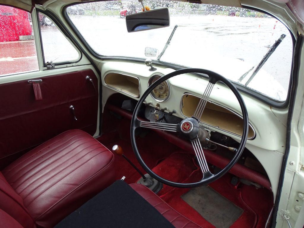
[(0, 208), (23, 227), (52, 227), (114, 182), (113, 161), (92, 136), (66, 131), (0, 173)]

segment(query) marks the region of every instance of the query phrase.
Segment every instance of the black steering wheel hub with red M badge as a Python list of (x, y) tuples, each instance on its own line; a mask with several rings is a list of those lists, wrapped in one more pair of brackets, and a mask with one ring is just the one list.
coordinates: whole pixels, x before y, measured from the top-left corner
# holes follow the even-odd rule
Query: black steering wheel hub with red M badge
[(199, 122), (193, 118), (186, 118), (179, 124), (179, 134), (185, 139), (193, 140), (199, 133)]

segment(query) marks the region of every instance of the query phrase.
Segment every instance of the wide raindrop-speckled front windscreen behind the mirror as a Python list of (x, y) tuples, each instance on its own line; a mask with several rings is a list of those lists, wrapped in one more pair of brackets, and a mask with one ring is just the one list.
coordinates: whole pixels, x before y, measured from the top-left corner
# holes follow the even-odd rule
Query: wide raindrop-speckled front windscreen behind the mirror
[[(168, 8), (170, 26), (128, 33), (125, 17), (142, 12), (138, 1), (83, 3), (70, 6), (73, 10), (68, 7), (67, 14), (101, 56), (145, 59), (148, 54), (163, 63), (215, 71), (268, 98), (286, 100), (293, 43), (289, 30), (278, 19), (251, 9), (219, 5), (160, 0), (144, 4), (150, 9)], [(151, 53), (145, 54), (146, 47), (162, 55), (151, 57)]]

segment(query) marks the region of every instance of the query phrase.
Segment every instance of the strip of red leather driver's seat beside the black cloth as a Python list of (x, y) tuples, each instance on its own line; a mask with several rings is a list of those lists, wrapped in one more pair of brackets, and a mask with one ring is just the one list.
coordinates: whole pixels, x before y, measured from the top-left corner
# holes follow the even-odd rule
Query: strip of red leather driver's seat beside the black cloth
[(201, 226), (174, 210), (146, 186), (140, 184), (130, 184), (130, 186), (154, 206), (176, 228), (201, 228)]

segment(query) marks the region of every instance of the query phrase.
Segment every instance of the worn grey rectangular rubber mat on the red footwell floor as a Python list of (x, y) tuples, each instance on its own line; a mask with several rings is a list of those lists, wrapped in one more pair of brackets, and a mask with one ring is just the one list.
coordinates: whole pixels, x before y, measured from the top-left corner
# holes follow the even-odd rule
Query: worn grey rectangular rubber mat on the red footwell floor
[(181, 198), (216, 228), (230, 227), (243, 213), (243, 209), (209, 186), (192, 188)]

